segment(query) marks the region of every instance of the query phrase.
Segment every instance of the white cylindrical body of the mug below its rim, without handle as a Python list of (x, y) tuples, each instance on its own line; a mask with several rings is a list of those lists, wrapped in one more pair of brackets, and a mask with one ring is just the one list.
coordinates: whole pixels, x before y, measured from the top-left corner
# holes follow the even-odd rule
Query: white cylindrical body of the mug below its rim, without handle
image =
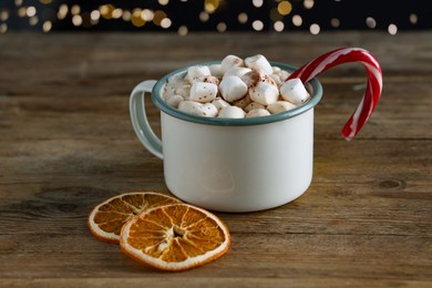
[(253, 212), (302, 195), (312, 178), (313, 110), (250, 126), (178, 120), (162, 112), (164, 175), (178, 198), (220, 212)]

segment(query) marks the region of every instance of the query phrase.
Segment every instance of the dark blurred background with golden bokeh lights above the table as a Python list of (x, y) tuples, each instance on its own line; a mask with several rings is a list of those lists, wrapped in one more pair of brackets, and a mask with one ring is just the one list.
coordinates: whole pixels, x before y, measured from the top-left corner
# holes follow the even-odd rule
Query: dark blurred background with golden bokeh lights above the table
[(1, 0), (10, 31), (309, 31), (432, 29), (426, 0)]

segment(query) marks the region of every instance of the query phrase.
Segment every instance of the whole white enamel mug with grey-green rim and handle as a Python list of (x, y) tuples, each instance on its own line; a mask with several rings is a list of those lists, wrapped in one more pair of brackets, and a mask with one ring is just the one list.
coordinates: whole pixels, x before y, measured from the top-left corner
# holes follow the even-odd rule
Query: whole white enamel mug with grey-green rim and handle
[[(217, 62), (198, 63), (209, 65)], [(292, 66), (271, 62), (287, 71)], [(136, 85), (130, 99), (134, 131), (164, 162), (168, 189), (184, 202), (218, 212), (256, 212), (287, 204), (309, 187), (313, 162), (313, 107), (322, 96), (318, 80), (311, 99), (287, 112), (250, 119), (200, 117), (162, 99), (167, 79)], [(161, 110), (162, 141), (145, 114), (145, 94)]]

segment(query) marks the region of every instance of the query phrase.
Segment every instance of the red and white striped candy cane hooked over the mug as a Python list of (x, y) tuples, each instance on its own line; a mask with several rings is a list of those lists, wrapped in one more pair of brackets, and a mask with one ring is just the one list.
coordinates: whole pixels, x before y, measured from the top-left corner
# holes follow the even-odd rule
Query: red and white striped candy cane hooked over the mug
[(382, 72), (377, 59), (361, 48), (341, 48), (322, 54), (296, 70), (289, 79), (299, 78), (304, 83), (321, 72), (349, 62), (361, 62), (368, 75), (368, 85), (364, 95), (342, 128), (342, 136), (350, 141), (361, 130), (378, 104), (382, 91)]

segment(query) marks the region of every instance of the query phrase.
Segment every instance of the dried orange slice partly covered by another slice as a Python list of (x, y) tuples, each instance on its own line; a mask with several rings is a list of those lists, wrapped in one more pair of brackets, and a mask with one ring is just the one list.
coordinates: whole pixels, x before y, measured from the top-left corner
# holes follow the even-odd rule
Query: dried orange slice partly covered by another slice
[(90, 232), (100, 240), (119, 243), (122, 226), (134, 215), (150, 207), (179, 203), (156, 192), (126, 192), (93, 208), (89, 216)]

